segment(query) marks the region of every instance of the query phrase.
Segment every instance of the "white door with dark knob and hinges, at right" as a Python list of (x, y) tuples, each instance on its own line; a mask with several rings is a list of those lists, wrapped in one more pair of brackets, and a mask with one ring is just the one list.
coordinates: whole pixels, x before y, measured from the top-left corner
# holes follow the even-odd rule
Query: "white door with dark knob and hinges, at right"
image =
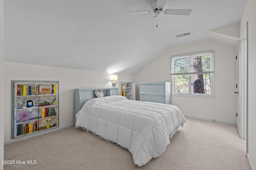
[(247, 28), (244, 27), (236, 46), (236, 113), (238, 133), (246, 140), (247, 116)]

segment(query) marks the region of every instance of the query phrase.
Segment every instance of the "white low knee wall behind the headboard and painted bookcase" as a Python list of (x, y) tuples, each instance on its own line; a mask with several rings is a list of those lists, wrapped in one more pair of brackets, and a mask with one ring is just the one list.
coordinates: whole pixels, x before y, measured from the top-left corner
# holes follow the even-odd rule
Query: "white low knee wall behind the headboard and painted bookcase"
[[(134, 82), (134, 78), (135, 76), (131, 74), (118, 74), (117, 87), (121, 81)], [(4, 141), (8, 143), (11, 140), (11, 80), (59, 81), (60, 127), (74, 123), (75, 88), (112, 86), (110, 74), (107, 72), (4, 62)]]

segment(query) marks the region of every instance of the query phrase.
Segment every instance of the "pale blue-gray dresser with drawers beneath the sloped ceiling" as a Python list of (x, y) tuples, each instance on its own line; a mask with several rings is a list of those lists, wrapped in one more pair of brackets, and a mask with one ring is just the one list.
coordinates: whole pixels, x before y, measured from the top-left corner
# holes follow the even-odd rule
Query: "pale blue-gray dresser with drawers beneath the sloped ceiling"
[(140, 83), (140, 101), (171, 104), (171, 82)]

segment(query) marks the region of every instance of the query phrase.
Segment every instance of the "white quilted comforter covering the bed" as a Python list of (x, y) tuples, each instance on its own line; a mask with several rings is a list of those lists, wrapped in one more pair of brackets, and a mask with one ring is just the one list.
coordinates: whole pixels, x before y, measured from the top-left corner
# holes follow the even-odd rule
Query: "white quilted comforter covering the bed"
[(127, 148), (138, 166), (160, 156), (185, 122), (176, 106), (127, 100), (123, 96), (94, 98), (76, 114), (76, 127)]

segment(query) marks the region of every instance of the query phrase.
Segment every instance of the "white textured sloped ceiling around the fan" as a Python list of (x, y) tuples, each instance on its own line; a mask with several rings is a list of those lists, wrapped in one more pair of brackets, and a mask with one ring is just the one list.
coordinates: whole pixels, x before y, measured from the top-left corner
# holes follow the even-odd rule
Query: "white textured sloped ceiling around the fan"
[[(167, 0), (151, 28), (152, 0), (4, 0), (4, 61), (136, 74), (170, 47), (209, 38), (208, 30), (239, 23), (246, 0)], [(190, 32), (190, 37), (176, 35)]]

